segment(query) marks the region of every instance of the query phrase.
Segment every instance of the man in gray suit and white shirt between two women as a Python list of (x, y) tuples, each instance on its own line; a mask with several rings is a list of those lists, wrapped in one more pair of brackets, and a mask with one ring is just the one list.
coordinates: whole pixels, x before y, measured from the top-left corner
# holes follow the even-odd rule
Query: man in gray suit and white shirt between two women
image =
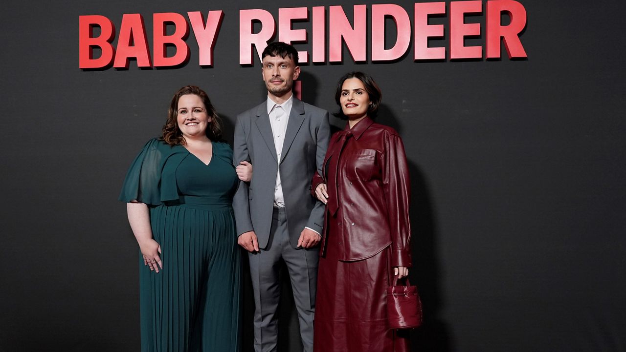
[(292, 94), (298, 53), (271, 43), (262, 54), (267, 101), (237, 116), (235, 165), (253, 165), (235, 198), (239, 244), (249, 251), (254, 288), (255, 351), (277, 348), (280, 259), (289, 270), (304, 351), (313, 350), (317, 261), (324, 204), (310, 195), (329, 141), (328, 112)]

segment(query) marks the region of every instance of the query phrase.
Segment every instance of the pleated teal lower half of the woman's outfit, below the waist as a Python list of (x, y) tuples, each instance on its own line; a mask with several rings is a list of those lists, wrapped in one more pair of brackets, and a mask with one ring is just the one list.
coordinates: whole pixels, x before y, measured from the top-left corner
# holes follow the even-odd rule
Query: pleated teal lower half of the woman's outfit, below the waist
[(163, 269), (140, 255), (142, 352), (239, 351), (240, 250), (231, 206), (150, 209)]

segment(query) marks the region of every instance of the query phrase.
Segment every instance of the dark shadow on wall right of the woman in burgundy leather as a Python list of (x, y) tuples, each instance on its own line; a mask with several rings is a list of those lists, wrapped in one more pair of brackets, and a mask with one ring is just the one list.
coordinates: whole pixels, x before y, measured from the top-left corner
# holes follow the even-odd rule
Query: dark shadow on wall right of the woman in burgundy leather
[[(381, 104), (376, 122), (393, 127), (403, 138), (405, 148), (412, 136), (403, 129), (386, 105)], [(409, 142), (410, 143), (410, 142)], [(444, 301), (441, 298), (441, 272), (439, 264), (438, 228), (436, 209), (428, 188), (428, 181), (418, 164), (408, 156), (411, 176), (411, 246), (413, 268), (409, 269), (411, 283), (418, 286), (422, 299), (424, 323), (407, 333), (411, 336), (411, 350), (419, 352), (454, 351), (454, 341), (449, 324), (441, 318)], [(419, 156), (414, 156), (418, 159)]]

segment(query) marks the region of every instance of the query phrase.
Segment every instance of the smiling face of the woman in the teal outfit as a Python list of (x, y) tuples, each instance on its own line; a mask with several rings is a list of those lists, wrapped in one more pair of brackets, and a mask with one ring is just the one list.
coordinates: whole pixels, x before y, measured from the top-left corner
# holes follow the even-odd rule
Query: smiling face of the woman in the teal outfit
[(207, 112), (202, 98), (195, 94), (185, 94), (178, 99), (178, 128), (185, 138), (206, 136), (211, 116)]

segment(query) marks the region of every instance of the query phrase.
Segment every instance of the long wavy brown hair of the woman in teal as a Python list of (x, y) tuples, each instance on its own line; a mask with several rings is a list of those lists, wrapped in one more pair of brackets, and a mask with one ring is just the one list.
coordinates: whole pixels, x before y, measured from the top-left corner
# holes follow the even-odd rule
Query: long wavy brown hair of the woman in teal
[(170, 108), (167, 112), (167, 121), (163, 125), (163, 136), (161, 139), (165, 141), (165, 143), (170, 144), (170, 146), (175, 146), (177, 144), (185, 144), (185, 138), (183, 137), (183, 133), (178, 128), (178, 99), (183, 95), (193, 94), (197, 95), (202, 99), (202, 103), (204, 103), (205, 108), (207, 109), (208, 116), (211, 117), (211, 122), (208, 123), (207, 126), (207, 137), (208, 139), (219, 142), (222, 141), (222, 119), (217, 115), (217, 111), (215, 111), (215, 106), (211, 104), (210, 99), (208, 99), (208, 95), (205, 91), (198, 88), (197, 86), (184, 86), (183, 88), (178, 89), (178, 91), (172, 97), (172, 102), (170, 103)]

